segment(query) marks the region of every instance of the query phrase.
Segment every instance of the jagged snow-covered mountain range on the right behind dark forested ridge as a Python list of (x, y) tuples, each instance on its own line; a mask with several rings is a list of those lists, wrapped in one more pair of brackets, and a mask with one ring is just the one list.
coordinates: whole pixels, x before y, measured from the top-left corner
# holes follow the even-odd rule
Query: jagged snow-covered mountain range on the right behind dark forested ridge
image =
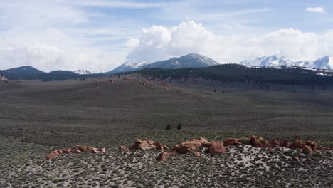
[(243, 66), (264, 66), (264, 67), (280, 67), (280, 66), (299, 66), (307, 68), (333, 69), (333, 58), (325, 56), (316, 61), (300, 61), (285, 58), (283, 56), (263, 56), (250, 61), (241, 61)]

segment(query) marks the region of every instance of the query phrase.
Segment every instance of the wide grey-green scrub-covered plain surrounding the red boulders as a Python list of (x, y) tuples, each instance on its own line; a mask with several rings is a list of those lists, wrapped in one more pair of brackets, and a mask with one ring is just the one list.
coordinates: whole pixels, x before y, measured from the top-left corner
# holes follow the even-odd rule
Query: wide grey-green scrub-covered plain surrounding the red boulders
[[(269, 142), (298, 136), (332, 147), (332, 88), (271, 85), (266, 91), (248, 83), (161, 80), (166, 89), (125, 76), (133, 80), (0, 83), (0, 187), (332, 187), (330, 150), (306, 155), (239, 145), (159, 162), (161, 151), (119, 149), (146, 138), (171, 148), (199, 137), (223, 142), (251, 135)], [(49, 152), (75, 145), (107, 152), (46, 160)]]

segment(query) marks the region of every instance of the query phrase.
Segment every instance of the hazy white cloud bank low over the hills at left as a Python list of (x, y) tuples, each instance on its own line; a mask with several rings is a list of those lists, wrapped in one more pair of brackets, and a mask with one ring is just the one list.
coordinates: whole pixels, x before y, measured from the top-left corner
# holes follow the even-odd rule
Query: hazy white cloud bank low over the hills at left
[(74, 71), (79, 68), (96, 71), (105, 59), (102, 56), (91, 57), (85, 53), (66, 53), (56, 46), (34, 44), (31, 46), (11, 46), (0, 49), (1, 68), (33, 66), (42, 71), (62, 70)]

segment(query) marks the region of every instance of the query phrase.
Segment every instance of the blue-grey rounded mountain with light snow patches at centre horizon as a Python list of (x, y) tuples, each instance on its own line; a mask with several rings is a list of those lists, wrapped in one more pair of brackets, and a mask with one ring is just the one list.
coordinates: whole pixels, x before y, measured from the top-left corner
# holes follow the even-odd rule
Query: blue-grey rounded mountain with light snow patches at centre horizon
[(216, 65), (219, 65), (219, 63), (211, 58), (201, 56), (197, 53), (190, 53), (186, 56), (181, 56), (180, 58), (170, 58), (168, 60), (157, 61), (154, 63), (147, 63), (147, 62), (132, 63), (131, 61), (127, 61), (126, 63), (122, 64), (121, 66), (107, 73), (136, 71), (144, 68), (167, 68), (167, 69), (199, 68), (199, 67), (208, 67)]

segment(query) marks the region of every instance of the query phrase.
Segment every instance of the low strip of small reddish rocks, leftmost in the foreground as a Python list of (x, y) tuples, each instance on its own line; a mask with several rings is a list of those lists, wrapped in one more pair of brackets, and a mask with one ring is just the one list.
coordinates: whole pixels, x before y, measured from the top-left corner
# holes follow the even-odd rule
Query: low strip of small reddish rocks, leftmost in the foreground
[(105, 148), (96, 148), (91, 146), (82, 146), (82, 145), (75, 145), (72, 148), (62, 149), (62, 150), (53, 150), (48, 155), (46, 155), (47, 160), (51, 160), (54, 157), (57, 157), (61, 154), (69, 154), (69, 153), (81, 153), (81, 152), (93, 152), (93, 153), (105, 153)]

